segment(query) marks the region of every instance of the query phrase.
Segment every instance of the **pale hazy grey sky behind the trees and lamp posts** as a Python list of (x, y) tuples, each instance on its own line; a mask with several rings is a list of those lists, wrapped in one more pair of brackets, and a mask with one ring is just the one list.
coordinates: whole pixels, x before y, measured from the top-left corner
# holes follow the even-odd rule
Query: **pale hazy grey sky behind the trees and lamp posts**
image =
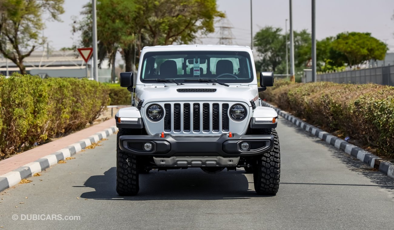
[[(252, 0), (253, 34), (264, 26), (285, 28), (289, 18), (288, 0)], [(87, 0), (65, 0), (63, 22), (46, 21), (44, 35), (54, 49), (71, 47), (78, 42), (72, 35), (72, 17), (81, 17)], [(217, 0), (234, 28), (233, 44), (250, 46), (250, 0)], [(344, 31), (370, 32), (386, 42), (394, 52), (394, 0), (316, 0), (316, 38), (335, 36)], [(311, 0), (293, 0), (294, 30), (311, 31)], [(289, 24), (287, 26), (289, 29)], [(217, 44), (217, 33), (201, 39), (203, 44)]]

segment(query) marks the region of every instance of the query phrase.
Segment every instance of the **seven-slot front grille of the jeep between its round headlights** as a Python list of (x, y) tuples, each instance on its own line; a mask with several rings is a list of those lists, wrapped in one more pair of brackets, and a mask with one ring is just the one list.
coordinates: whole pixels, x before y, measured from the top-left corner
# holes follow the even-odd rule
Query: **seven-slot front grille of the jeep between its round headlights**
[(165, 132), (228, 132), (228, 103), (165, 103)]

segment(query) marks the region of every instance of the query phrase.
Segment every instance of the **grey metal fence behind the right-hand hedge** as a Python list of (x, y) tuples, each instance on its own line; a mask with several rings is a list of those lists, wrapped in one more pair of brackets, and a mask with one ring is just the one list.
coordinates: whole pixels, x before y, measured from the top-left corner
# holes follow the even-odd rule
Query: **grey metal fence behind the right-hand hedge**
[(375, 83), (394, 86), (394, 66), (317, 74), (316, 80), (353, 84)]

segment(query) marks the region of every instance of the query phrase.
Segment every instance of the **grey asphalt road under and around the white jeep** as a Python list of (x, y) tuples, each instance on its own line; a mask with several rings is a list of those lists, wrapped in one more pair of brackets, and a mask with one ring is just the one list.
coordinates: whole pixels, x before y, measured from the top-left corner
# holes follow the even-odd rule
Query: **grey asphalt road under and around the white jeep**
[[(276, 196), (256, 195), (253, 175), (241, 169), (179, 169), (141, 175), (139, 195), (120, 197), (112, 135), (33, 182), (2, 192), (1, 229), (393, 228), (393, 179), (284, 119), (277, 131), (282, 165)], [(26, 220), (34, 218), (30, 214), (41, 220)], [(80, 220), (46, 220), (48, 214)]]

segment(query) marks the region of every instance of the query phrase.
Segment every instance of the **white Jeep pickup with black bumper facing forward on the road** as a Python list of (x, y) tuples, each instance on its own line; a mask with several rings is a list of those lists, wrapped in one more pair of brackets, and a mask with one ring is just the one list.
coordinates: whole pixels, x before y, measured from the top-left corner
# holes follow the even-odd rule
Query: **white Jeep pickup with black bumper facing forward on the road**
[(243, 167), (256, 193), (277, 193), (278, 114), (258, 96), (273, 85), (273, 73), (261, 72), (257, 86), (249, 47), (144, 47), (138, 73), (121, 73), (120, 85), (132, 98), (135, 85), (135, 98), (115, 116), (119, 195), (138, 193), (140, 173), (189, 167)]

